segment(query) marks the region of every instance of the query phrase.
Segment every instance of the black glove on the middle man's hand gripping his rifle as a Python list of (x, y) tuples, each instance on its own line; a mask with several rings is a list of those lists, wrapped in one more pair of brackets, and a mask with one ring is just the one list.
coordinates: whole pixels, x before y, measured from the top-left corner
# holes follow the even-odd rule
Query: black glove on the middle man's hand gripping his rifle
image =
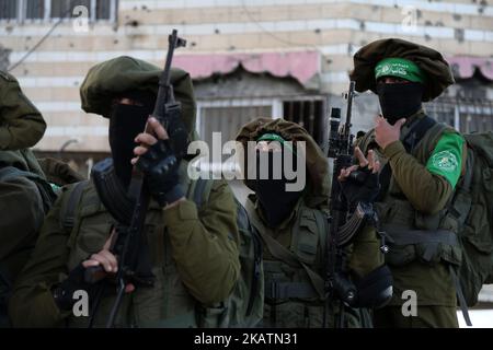
[[(356, 174), (356, 172), (358, 172)], [(356, 208), (358, 202), (370, 203), (380, 192), (378, 173), (372, 173), (368, 166), (353, 172), (345, 180), (340, 180), (341, 189), (349, 208)]]

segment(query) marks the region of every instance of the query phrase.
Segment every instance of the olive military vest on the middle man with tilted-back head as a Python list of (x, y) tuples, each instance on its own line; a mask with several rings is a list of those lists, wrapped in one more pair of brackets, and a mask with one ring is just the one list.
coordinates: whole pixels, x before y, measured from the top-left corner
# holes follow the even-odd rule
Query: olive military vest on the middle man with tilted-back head
[[(325, 310), (323, 252), (329, 235), (326, 214), (299, 203), (290, 229), (289, 247), (273, 237), (251, 200), (245, 209), (264, 243), (264, 319), (263, 327), (333, 327), (337, 305)], [(275, 242), (273, 242), (275, 241)], [(267, 254), (268, 253), (268, 254)], [(359, 326), (359, 314), (345, 310), (346, 327)]]

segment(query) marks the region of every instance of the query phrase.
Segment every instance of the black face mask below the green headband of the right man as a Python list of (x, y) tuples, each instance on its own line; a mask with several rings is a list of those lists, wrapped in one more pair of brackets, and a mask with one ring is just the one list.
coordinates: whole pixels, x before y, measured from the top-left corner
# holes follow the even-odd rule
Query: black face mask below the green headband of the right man
[(424, 86), (421, 83), (377, 84), (378, 98), (383, 117), (393, 125), (421, 109)]

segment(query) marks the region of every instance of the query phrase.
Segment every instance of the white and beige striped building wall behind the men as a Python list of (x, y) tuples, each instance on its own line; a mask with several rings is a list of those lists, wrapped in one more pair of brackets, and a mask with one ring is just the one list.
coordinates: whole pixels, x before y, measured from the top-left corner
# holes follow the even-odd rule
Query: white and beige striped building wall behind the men
[[(24, 3), (24, 1), (18, 1)], [(51, 0), (51, 2), (56, 0)], [(49, 0), (39, 1), (44, 5)], [(74, 1), (93, 7), (99, 1)], [(187, 39), (180, 55), (290, 52), (316, 50), (320, 67), (313, 86), (326, 107), (343, 106), (352, 56), (379, 38), (400, 37), (431, 46), (445, 57), (473, 56), (491, 61), (493, 7), (486, 1), (387, 0), (112, 0), (114, 14), (90, 21), (88, 31), (67, 20), (11, 72), (48, 122), (38, 150), (107, 151), (107, 120), (80, 109), (79, 86), (91, 66), (130, 55), (162, 66), (167, 35), (177, 28)], [(51, 4), (53, 5), (53, 4)], [(46, 16), (47, 14), (45, 14)], [(1, 16), (1, 15), (0, 15)], [(48, 33), (56, 20), (1, 20), (2, 52), (16, 65)], [(5, 56), (5, 55), (3, 55)], [(200, 65), (197, 61), (197, 65)], [(491, 80), (483, 84), (491, 96)], [(328, 109), (325, 110), (325, 113)], [(355, 101), (357, 128), (371, 126), (376, 97)]]

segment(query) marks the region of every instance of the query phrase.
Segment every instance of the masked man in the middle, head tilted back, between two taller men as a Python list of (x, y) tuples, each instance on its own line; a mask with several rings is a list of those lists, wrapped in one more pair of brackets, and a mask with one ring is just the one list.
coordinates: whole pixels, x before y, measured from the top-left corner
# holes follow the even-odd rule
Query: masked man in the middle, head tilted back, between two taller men
[[(320, 148), (301, 126), (284, 119), (256, 119), (243, 126), (237, 141), (243, 150), (248, 150), (249, 142), (255, 144), (255, 153), (243, 155), (240, 164), (245, 185), (254, 191), (249, 196), (245, 209), (264, 243), (263, 326), (369, 327), (368, 317), (364, 317), (367, 316), (365, 310), (345, 306), (341, 319), (341, 304), (325, 300), (330, 182), (329, 163)], [(300, 152), (297, 142), (306, 144), (306, 155), (299, 154), (299, 163), (296, 161), (297, 152)], [(280, 156), (279, 163), (275, 163), (276, 153)], [(265, 155), (267, 166), (262, 165)], [(287, 156), (295, 160), (289, 163)], [(252, 163), (254, 173), (251, 172)], [(286, 164), (295, 164), (296, 179), (288, 179)], [(290, 165), (287, 166), (290, 170)], [(262, 171), (266, 168), (268, 174), (263, 175)], [(284, 170), (282, 176), (276, 178), (275, 168)], [(307, 175), (305, 183), (301, 174)], [(294, 186), (300, 180), (299, 187), (296, 185), (298, 188), (287, 189), (286, 185)], [(391, 295), (391, 278), (382, 265), (375, 231), (367, 228), (360, 232), (352, 249), (353, 258), (347, 258), (351, 261), (344, 272), (359, 282), (360, 301), (368, 298), (366, 305), (358, 306), (383, 304)], [(370, 275), (372, 279), (365, 279)], [(370, 280), (382, 284), (376, 287), (369, 283)]]

